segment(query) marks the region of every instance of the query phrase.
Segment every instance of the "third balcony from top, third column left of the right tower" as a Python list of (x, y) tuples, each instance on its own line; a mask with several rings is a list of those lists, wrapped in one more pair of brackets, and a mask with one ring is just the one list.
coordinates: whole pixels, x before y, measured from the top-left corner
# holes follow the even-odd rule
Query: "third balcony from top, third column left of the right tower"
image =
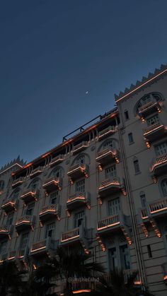
[(44, 224), (48, 220), (52, 220), (54, 218), (60, 219), (60, 205), (50, 204), (47, 206), (43, 206), (42, 210), (40, 211), (40, 222)]

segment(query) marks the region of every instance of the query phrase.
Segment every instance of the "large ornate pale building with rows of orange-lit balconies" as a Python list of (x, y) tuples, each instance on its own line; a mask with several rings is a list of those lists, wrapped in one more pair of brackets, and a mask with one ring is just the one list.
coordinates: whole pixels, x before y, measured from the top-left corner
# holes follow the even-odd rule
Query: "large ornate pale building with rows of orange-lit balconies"
[(80, 246), (165, 296), (167, 65), (115, 102), (39, 158), (1, 169), (1, 261), (38, 265), (58, 245)]

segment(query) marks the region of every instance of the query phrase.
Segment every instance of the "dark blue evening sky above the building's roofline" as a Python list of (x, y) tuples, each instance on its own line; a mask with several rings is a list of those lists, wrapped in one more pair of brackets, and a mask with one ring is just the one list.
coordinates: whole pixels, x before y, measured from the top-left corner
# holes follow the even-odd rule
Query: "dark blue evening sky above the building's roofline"
[(1, 1), (0, 166), (45, 153), (166, 64), (166, 11), (166, 0)]

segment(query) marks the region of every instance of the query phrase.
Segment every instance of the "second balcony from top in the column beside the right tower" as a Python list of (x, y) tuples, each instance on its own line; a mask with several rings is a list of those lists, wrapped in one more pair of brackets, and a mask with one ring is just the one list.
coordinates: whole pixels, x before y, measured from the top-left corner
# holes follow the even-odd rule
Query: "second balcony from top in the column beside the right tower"
[(108, 165), (111, 162), (120, 162), (119, 153), (116, 149), (106, 148), (98, 153), (96, 161), (102, 166)]

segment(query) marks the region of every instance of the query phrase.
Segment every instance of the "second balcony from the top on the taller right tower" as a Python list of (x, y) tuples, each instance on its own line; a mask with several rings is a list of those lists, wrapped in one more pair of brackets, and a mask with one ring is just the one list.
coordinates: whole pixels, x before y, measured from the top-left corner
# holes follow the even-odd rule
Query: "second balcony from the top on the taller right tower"
[(165, 133), (165, 126), (161, 123), (156, 123), (144, 130), (144, 138), (146, 141), (153, 142), (164, 136)]

